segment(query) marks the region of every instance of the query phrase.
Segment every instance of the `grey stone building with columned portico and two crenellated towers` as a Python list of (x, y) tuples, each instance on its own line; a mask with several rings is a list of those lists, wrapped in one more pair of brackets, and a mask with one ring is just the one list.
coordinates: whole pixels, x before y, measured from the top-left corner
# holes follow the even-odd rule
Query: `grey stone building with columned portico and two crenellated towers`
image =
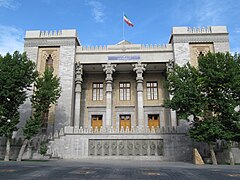
[[(60, 158), (191, 160), (192, 144), (164, 89), (174, 64), (196, 66), (198, 56), (229, 51), (225, 26), (173, 27), (168, 44), (84, 46), (76, 30), (27, 31), (28, 57), (39, 72), (52, 67), (62, 94), (43, 130)], [(31, 114), (28, 100), (22, 123)]]

